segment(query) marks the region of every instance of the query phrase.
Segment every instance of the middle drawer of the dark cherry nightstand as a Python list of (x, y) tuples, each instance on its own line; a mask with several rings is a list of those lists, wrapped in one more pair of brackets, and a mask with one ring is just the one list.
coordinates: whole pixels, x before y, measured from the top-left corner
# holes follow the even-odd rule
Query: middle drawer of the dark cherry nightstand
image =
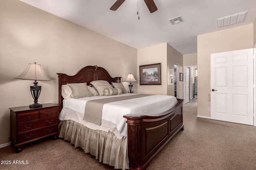
[(42, 119), (37, 121), (30, 121), (26, 123), (18, 124), (18, 133), (31, 131), (40, 127), (46, 127), (49, 125), (54, 125), (58, 123), (58, 117), (50, 117), (48, 119)]

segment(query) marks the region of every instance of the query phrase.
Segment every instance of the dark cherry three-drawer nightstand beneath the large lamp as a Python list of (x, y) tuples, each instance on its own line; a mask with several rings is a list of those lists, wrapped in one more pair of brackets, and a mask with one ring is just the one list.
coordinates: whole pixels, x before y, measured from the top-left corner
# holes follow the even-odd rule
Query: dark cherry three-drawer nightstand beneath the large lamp
[(16, 147), (16, 153), (21, 152), (21, 145), (54, 135), (58, 136), (57, 104), (43, 104), (42, 107), (29, 106), (10, 108), (10, 140)]

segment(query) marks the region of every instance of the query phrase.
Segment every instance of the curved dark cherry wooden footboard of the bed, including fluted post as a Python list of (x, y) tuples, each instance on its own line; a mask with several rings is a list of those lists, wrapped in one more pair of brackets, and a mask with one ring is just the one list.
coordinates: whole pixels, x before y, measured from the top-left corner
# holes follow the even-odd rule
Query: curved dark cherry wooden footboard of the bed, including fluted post
[(160, 116), (125, 115), (128, 124), (130, 170), (144, 170), (150, 160), (174, 137), (183, 125), (183, 100)]

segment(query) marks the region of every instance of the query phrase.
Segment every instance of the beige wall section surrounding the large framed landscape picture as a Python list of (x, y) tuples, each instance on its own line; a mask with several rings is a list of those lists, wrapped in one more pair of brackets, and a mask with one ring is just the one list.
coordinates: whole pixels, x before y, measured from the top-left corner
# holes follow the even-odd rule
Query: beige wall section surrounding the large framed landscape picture
[[(137, 50), (137, 79), (138, 93), (140, 94), (167, 94), (167, 43), (153, 45)], [(141, 65), (162, 63), (162, 85), (140, 85)]]

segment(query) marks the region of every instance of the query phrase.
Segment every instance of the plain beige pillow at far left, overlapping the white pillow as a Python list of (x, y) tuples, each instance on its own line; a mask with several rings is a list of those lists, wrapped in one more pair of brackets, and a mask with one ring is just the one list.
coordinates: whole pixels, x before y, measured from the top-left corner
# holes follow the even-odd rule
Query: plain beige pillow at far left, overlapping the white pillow
[(84, 97), (92, 96), (92, 94), (90, 94), (87, 88), (86, 83), (71, 83), (71, 84), (68, 84), (68, 86), (72, 90), (72, 94), (71, 94), (72, 98), (84, 98)]

